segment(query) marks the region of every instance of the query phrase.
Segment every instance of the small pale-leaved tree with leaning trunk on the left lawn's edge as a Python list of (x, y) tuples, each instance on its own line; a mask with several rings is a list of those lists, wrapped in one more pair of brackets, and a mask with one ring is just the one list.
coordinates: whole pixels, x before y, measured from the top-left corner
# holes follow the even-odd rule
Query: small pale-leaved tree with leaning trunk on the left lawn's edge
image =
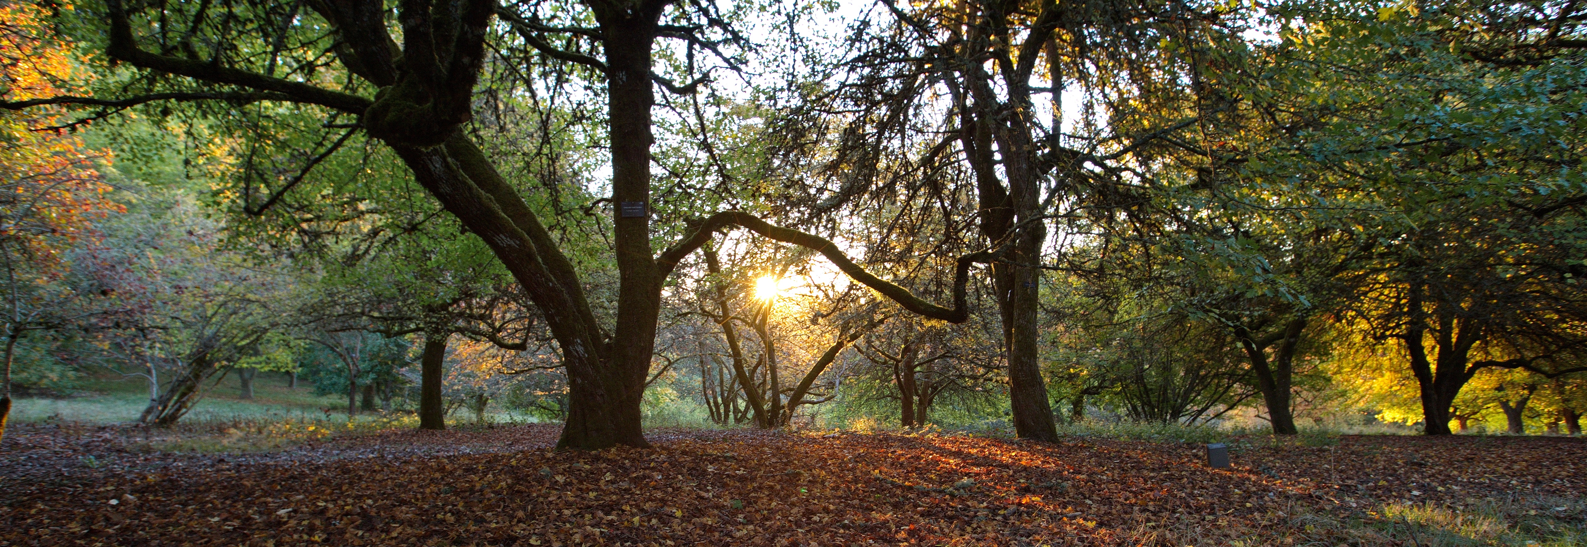
[(232, 365), (284, 365), (290, 273), (256, 270), (227, 251), (219, 225), (190, 195), (151, 190), (138, 211), (103, 231), (103, 244), (78, 258), (95, 265), (79, 292), (111, 295), (113, 306), (78, 327), (110, 347), (113, 369), (148, 381), (141, 422), (176, 423), (203, 398), (205, 381)]

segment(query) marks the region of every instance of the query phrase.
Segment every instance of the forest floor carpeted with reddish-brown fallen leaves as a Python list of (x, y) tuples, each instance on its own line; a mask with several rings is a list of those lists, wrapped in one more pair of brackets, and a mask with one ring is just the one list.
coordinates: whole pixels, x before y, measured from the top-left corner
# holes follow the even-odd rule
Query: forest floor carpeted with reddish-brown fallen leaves
[[(555, 425), (390, 430), (252, 453), (19, 423), (0, 545), (1581, 545), (1587, 439), (1198, 444)], [(189, 431), (187, 434), (198, 434)], [(1320, 446), (1308, 446), (1320, 444)]]

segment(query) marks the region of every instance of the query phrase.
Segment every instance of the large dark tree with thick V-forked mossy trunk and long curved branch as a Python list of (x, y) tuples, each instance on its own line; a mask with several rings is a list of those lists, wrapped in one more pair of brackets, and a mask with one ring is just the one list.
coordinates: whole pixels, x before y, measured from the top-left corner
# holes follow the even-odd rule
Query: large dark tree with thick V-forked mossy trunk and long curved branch
[[(324, 113), (329, 119), (357, 116), (357, 128), (390, 146), (419, 184), (492, 249), (543, 311), (563, 355), (571, 390), (568, 422), (559, 446), (646, 446), (640, 430), (640, 400), (654, 349), (663, 279), (717, 230), (736, 225), (816, 249), (840, 270), (906, 309), (963, 320), (962, 306), (949, 309), (922, 301), (865, 273), (824, 238), (773, 227), (744, 212), (717, 212), (687, 230), (671, 249), (659, 255), (654, 252), (649, 173), (655, 40), (678, 36), (716, 51), (720, 41), (706, 40), (701, 33), (732, 35), (716, 17), (714, 6), (708, 5), (689, 5), (671, 14), (679, 22), (697, 19), (703, 24), (662, 24), (670, 5), (663, 0), (590, 2), (578, 6), (587, 11), (578, 13), (594, 19), (597, 27), (555, 27), (541, 21), (557, 17), (536, 11), (549, 8), (498, 8), (494, 2), (479, 0), (459, 5), (403, 3), (395, 19), (384, 17), (379, 3), (351, 0), (308, 3), (313, 13), (276, 3), (246, 3), (225, 13), (208, 11), (206, 5), (129, 10), (122, 2), (111, 0), (105, 13), (106, 55), (151, 75), (173, 76), (151, 81), (183, 90), (151, 90), (114, 100), (56, 97), (52, 101), (113, 108), (156, 100), (281, 101), (300, 105), (295, 108), (302, 111)], [(495, 27), (490, 19), (497, 14), (517, 38), (492, 35)], [(171, 21), (183, 21), (192, 32), (168, 32)], [(392, 21), (402, 27), (402, 46), (392, 40)], [(543, 33), (570, 35), (573, 43), (595, 41), (605, 59), (551, 48)], [(195, 35), (206, 40), (200, 44), (192, 40)], [(609, 335), (590, 308), (582, 281), (559, 241), (462, 130), (475, 117), (471, 98), (486, 65), (487, 38), (516, 40), (516, 44), (527, 44), (549, 59), (589, 67), (606, 82), (611, 201), (619, 205), (613, 208), (611, 219), (619, 287)], [(321, 52), (327, 54), (324, 59), (335, 59), (335, 67), (309, 60), (321, 59)], [(286, 68), (287, 78), (276, 76), (278, 68)], [(663, 86), (676, 92), (695, 87), (668, 81)], [(209, 90), (214, 87), (224, 90)], [(368, 97), (376, 89), (379, 92)], [(292, 184), (286, 181), (276, 190), (289, 190)], [(959, 270), (968, 273), (976, 260), (960, 260)]]

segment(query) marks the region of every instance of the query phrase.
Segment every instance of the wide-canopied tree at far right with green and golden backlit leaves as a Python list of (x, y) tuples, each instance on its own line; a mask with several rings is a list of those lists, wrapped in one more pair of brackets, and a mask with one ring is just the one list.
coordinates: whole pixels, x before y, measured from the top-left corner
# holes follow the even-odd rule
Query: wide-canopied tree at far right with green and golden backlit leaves
[(1577, 8), (1509, 8), (1281, 5), (1285, 30), (1247, 65), (1258, 78), (1225, 79), (1276, 130), (1228, 155), (1228, 173), (1305, 190), (1274, 205), (1360, 233), (1362, 252), (1341, 263), (1357, 295), (1346, 311), (1401, 344), (1428, 434), (1451, 433), (1451, 404), (1477, 371), (1563, 374), (1555, 365), (1581, 347), (1565, 276), (1579, 179), (1555, 163), (1582, 151), (1565, 114), (1579, 105), (1557, 98), (1587, 75), (1558, 40), (1579, 32)]

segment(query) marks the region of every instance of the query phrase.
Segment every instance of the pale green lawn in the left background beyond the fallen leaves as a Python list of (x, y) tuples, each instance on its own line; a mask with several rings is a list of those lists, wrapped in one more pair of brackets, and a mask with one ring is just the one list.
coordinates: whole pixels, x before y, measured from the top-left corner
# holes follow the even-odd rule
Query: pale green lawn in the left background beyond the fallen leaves
[[(211, 381), (213, 384), (214, 381)], [(287, 376), (259, 373), (254, 377), (254, 398), (238, 398), (241, 393), (236, 374), (227, 374), (217, 385), (205, 384), (205, 396), (183, 417), (184, 422), (229, 422), (259, 417), (324, 417), (324, 409), (333, 414), (346, 412), (343, 396), (316, 396), (314, 387), (298, 382), (287, 387)], [(135, 422), (149, 404), (148, 382), (143, 379), (92, 379), (83, 384), (83, 396), (71, 398), (19, 398), (11, 409), (11, 420), (43, 422), (67, 420), (86, 423)]]

